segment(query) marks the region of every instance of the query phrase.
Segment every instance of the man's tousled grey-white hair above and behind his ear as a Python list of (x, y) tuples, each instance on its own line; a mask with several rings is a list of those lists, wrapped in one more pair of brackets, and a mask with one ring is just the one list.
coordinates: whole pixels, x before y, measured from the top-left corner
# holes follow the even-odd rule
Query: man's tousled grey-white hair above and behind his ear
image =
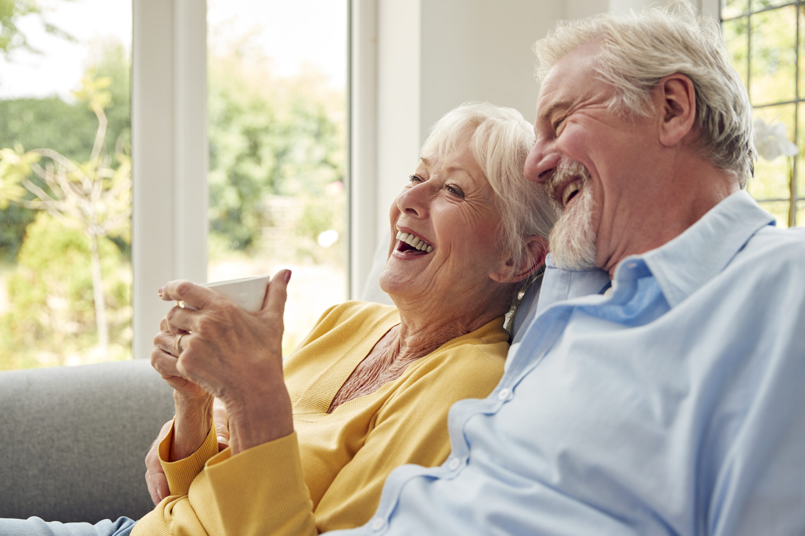
[(646, 116), (650, 92), (661, 78), (675, 73), (690, 78), (696, 88), (697, 149), (746, 186), (756, 158), (752, 107), (714, 19), (679, 0), (638, 14), (560, 21), (534, 45), (537, 78), (542, 81), (559, 59), (592, 39), (601, 43), (596, 74), (615, 88), (610, 104), (618, 111)]

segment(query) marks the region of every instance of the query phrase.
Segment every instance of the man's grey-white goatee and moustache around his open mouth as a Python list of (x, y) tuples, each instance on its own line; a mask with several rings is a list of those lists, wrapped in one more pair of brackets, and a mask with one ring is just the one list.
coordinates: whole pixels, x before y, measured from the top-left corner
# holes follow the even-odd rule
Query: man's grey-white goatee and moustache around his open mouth
[(551, 259), (559, 268), (592, 270), (596, 268), (596, 231), (592, 228), (592, 211), (596, 203), (592, 199), (587, 168), (579, 162), (559, 164), (547, 185), (548, 198), (551, 203), (556, 204), (553, 194), (555, 186), (559, 186), (569, 177), (582, 178), (581, 192), (576, 194), (576, 201), (571, 207), (564, 209), (551, 230)]

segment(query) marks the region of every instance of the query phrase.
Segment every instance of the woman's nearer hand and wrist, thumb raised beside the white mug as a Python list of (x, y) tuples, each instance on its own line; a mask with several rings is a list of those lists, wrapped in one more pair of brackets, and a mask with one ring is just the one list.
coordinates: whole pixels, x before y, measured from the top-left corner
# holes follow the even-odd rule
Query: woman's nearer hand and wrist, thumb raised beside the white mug
[(293, 432), (282, 361), (283, 312), (290, 279), (290, 270), (271, 279), (258, 313), (189, 281), (171, 281), (160, 289), (163, 300), (184, 301), (198, 309), (174, 307), (167, 313), (171, 335), (186, 333), (180, 341), (175, 375), (225, 404), (233, 454)]

